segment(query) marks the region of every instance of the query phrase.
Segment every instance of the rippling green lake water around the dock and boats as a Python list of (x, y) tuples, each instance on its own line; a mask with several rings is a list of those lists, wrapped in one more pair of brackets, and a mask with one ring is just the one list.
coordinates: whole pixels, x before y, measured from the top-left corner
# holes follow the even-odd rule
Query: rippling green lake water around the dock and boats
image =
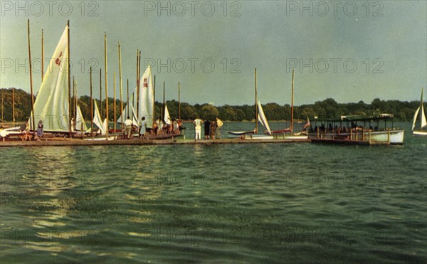
[(426, 263), (427, 138), (399, 125), (403, 146), (2, 148), (0, 262)]

